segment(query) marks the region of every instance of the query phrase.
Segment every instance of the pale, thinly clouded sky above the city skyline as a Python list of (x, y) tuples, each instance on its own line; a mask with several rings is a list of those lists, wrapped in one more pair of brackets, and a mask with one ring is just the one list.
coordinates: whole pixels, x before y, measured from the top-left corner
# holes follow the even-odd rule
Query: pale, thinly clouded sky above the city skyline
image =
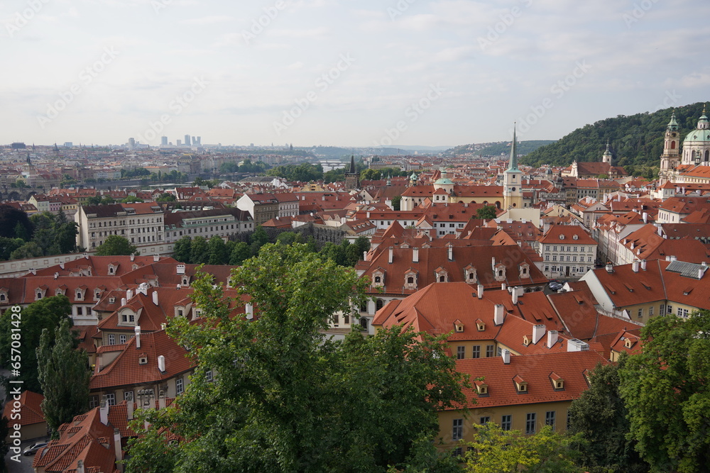
[(706, 0), (3, 0), (0, 143), (556, 140), (710, 99)]

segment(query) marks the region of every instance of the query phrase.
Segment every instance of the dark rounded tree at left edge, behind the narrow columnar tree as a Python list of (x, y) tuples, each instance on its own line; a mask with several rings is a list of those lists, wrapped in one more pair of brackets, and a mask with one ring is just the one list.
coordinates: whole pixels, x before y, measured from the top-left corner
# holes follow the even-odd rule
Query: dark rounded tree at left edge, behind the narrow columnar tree
[[(11, 347), (11, 328), (13, 325), (11, 318), (12, 311), (5, 311), (0, 316), (0, 353), (4, 357), (3, 364), (8, 366)], [(36, 348), (40, 346), (40, 335), (46, 328), (53, 343), (54, 330), (57, 325), (64, 320), (70, 319), (72, 304), (66, 296), (45, 297), (29, 304), (22, 309), (22, 318), (19, 328), (22, 339), (20, 354), (22, 357), (22, 371), (18, 379), (23, 381), (23, 388), (38, 393), (42, 392), (42, 386), (38, 381), (37, 353)]]

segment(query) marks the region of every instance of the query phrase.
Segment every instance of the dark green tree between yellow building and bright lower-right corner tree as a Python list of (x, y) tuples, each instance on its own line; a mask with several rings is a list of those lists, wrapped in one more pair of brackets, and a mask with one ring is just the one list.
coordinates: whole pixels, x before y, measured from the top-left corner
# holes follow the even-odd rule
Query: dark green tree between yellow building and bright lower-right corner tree
[(629, 437), (628, 411), (619, 394), (618, 365), (597, 365), (589, 375), (589, 389), (579, 399), (572, 401), (567, 415), (569, 432), (579, 433), (584, 445), (580, 446), (579, 463), (592, 473), (648, 472), (635, 452), (635, 442)]

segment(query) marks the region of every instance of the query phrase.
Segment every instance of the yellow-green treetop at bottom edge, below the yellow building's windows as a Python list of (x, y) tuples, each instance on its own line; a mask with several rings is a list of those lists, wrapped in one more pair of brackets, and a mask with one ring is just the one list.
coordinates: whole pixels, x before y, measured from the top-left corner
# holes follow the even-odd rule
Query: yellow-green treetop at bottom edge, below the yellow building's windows
[(470, 473), (581, 473), (574, 464), (579, 452), (572, 446), (578, 437), (556, 433), (545, 425), (535, 435), (519, 430), (503, 430), (489, 422), (474, 425), (474, 441), (466, 452), (466, 472)]

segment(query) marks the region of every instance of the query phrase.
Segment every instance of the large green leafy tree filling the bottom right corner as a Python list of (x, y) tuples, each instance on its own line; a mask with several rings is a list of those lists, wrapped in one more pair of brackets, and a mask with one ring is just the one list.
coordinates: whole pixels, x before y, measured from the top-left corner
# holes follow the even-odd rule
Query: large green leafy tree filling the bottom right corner
[(652, 472), (710, 465), (710, 312), (652, 318), (619, 370), (630, 437)]

